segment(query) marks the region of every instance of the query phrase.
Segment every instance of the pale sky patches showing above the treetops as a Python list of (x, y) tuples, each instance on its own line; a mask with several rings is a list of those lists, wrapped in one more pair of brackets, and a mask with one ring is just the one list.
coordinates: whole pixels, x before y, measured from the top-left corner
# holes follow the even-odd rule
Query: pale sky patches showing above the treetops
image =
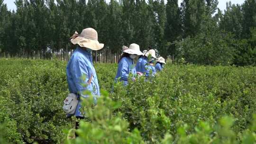
[[(15, 0), (4, 0), (4, 3), (6, 3), (7, 4), (7, 6), (8, 6), (8, 9), (10, 9), (10, 10), (15, 10), (16, 9), (16, 6), (15, 6), (15, 4), (14, 4), (14, 1)], [(110, 0), (106, 0), (107, 2), (109, 2)], [(166, 0), (165, 0), (166, 1)], [(242, 3), (244, 3), (244, 1), (245, 0), (219, 0), (219, 9), (220, 10), (224, 10), (224, 9), (226, 9), (226, 2), (228, 2), (228, 1), (231, 1), (232, 2), (232, 4), (242, 4)], [(182, 0), (179, 0), (179, 3), (180, 2), (182, 2)]]

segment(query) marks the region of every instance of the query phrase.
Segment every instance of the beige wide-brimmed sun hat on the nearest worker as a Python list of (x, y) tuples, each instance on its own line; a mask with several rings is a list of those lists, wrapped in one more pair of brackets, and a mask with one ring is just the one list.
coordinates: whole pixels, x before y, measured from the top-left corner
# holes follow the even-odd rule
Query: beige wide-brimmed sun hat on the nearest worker
[(81, 47), (90, 48), (95, 51), (104, 47), (104, 44), (99, 43), (98, 33), (93, 28), (83, 29), (80, 35), (75, 32), (74, 35), (70, 37), (70, 41), (73, 45), (80, 45)]

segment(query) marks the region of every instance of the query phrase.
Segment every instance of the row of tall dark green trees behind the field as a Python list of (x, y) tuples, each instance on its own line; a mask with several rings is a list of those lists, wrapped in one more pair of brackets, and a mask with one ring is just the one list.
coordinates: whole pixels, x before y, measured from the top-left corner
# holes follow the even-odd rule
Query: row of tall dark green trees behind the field
[[(98, 31), (106, 56), (137, 43), (177, 62), (256, 64), (256, 0), (242, 5), (218, 0), (16, 0), (9, 11), (0, 0), (0, 55), (68, 59), (75, 31)], [(99, 59), (99, 58), (98, 58)], [(113, 58), (114, 59), (114, 58)], [(116, 59), (116, 58), (115, 58)]]

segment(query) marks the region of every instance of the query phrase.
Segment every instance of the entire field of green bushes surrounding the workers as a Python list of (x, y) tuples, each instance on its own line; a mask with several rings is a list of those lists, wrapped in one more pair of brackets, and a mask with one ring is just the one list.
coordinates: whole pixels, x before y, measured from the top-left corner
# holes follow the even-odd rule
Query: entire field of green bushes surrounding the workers
[(114, 84), (117, 64), (95, 64), (91, 122), (62, 110), (66, 62), (0, 59), (0, 144), (253, 144), (256, 67), (167, 64), (155, 77)]

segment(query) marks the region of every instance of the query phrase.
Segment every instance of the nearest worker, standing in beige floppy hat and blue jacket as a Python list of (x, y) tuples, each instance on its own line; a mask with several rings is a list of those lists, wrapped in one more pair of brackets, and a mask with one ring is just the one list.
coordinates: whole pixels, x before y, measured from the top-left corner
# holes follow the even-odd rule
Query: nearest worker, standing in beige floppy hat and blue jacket
[[(97, 97), (100, 96), (100, 87), (96, 71), (92, 63), (92, 50), (100, 50), (104, 47), (104, 44), (100, 44), (98, 41), (98, 33), (93, 28), (86, 28), (82, 30), (82, 33), (78, 35), (77, 32), (70, 38), (73, 45), (77, 45), (74, 50), (66, 68), (68, 89), (70, 93), (77, 95), (78, 99), (83, 97), (87, 98), (87, 95), (83, 94), (83, 91), (91, 91), (94, 96), (94, 102), (97, 102)], [(83, 113), (80, 112), (81, 99), (79, 99), (75, 113), (73, 114), (77, 118), (84, 118)], [(67, 117), (71, 117), (68, 115)], [(79, 124), (76, 123), (76, 128)]]

